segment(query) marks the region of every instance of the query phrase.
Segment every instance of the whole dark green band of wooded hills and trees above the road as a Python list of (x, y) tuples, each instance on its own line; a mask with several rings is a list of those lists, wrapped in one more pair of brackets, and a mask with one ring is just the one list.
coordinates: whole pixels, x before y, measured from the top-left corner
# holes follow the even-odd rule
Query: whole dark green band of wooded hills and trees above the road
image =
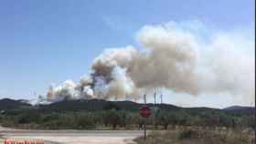
[[(63, 101), (2, 110), (0, 124), (22, 129), (141, 129), (144, 119), (138, 115), (140, 106), (129, 101)], [(178, 108), (165, 104), (156, 107), (155, 114), (146, 119), (149, 129), (173, 129), (178, 126), (255, 129), (254, 112)]]

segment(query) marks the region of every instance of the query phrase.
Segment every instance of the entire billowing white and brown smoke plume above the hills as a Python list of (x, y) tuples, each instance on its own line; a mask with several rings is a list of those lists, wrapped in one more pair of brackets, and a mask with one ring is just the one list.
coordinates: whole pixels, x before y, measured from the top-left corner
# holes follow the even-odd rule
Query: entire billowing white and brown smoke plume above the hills
[(49, 87), (48, 100), (138, 99), (158, 87), (191, 96), (255, 96), (251, 37), (217, 33), (201, 23), (170, 22), (144, 26), (136, 39), (143, 49), (105, 49), (93, 60), (91, 76), (78, 83), (67, 80), (59, 87)]

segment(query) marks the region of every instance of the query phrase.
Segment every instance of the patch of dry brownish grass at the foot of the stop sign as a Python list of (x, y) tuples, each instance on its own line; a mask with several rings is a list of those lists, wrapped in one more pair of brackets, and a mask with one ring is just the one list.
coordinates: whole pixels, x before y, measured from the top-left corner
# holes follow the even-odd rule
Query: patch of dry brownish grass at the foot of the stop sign
[(153, 132), (138, 144), (254, 144), (255, 132), (244, 130), (184, 129)]

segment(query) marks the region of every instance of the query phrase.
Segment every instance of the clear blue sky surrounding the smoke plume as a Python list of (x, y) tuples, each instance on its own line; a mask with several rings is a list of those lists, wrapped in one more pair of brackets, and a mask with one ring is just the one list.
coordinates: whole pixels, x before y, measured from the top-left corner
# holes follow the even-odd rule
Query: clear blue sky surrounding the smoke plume
[[(253, 0), (1, 1), (0, 98), (33, 99), (51, 83), (79, 80), (104, 48), (137, 46), (134, 36), (145, 25), (199, 20), (254, 35), (254, 11)], [(179, 104), (173, 99), (167, 101)]]

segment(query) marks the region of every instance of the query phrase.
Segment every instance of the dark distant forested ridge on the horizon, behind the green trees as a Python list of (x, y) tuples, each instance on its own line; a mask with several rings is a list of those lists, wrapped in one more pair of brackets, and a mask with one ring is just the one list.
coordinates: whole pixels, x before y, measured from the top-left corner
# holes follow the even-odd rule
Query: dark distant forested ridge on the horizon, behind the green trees
[[(63, 100), (51, 104), (36, 105), (32, 106), (25, 100), (14, 100), (9, 98), (0, 99), (0, 110), (10, 109), (37, 109), (44, 112), (52, 111), (77, 111), (77, 110), (88, 110), (98, 111), (104, 109), (115, 108), (117, 110), (127, 110), (131, 112), (137, 111), (144, 104), (135, 103), (132, 101), (107, 101), (102, 99), (91, 99), (91, 100)], [(153, 107), (153, 104), (147, 104), (149, 107)], [(185, 110), (190, 113), (202, 113), (202, 112), (229, 112), (233, 114), (245, 114), (251, 115), (255, 113), (255, 108), (251, 107), (229, 107), (224, 109), (218, 108), (181, 108), (170, 104), (157, 104), (157, 108), (165, 109), (167, 111), (172, 110)]]

